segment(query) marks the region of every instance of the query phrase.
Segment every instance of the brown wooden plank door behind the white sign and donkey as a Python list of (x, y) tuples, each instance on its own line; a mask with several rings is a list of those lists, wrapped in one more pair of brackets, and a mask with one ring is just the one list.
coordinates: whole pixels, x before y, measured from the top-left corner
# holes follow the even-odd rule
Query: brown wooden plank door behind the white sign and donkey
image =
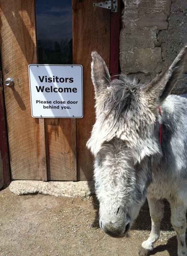
[[(99, 2), (94, 0), (94, 2)], [(91, 51), (110, 66), (111, 12), (92, 0), (72, 0), (73, 64), (83, 65), (84, 117), (31, 117), (28, 64), (38, 63), (33, 0), (0, 0), (0, 40), (12, 179), (90, 180), (93, 159), (86, 148), (95, 121)], [(50, 64), (50, 63), (49, 63)]]

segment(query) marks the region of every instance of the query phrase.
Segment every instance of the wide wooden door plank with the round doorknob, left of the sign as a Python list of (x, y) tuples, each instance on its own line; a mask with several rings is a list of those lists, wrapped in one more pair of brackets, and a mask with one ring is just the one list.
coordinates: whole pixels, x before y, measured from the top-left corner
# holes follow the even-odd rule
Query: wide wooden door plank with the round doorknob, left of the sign
[(37, 63), (34, 0), (0, 0), (0, 40), (11, 176), (45, 179), (44, 124), (31, 117), (27, 65)]

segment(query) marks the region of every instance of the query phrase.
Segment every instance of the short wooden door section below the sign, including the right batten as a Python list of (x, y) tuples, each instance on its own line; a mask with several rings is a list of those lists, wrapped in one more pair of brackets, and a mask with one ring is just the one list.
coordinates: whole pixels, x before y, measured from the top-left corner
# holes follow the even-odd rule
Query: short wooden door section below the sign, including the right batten
[(76, 180), (76, 123), (74, 119), (46, 119), (48, 180)]

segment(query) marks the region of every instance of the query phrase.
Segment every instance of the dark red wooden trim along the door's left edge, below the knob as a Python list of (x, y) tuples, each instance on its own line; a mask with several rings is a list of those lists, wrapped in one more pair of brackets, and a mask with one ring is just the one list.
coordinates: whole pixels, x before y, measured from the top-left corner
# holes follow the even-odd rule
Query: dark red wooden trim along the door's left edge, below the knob
[(3, 162), (3, 178), (4, 188), (10, 183), (10, 162), (9, 162), (9, 150), (8, 150), (8, 137), (6, 127), (5, 105), (4, 105), (4, 92), (1, 84), (1, 71), (0, 71), (0, 151)]

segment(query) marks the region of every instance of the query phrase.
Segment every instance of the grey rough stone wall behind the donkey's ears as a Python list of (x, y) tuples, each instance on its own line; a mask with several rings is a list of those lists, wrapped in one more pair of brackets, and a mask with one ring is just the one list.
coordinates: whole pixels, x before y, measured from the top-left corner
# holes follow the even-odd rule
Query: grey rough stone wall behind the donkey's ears
[[(123, 0), (120, 67), (141, 83), (165, 71), (187, 44), (186, 0)], [(173, 93), (187, 91), (187, 64)]]

